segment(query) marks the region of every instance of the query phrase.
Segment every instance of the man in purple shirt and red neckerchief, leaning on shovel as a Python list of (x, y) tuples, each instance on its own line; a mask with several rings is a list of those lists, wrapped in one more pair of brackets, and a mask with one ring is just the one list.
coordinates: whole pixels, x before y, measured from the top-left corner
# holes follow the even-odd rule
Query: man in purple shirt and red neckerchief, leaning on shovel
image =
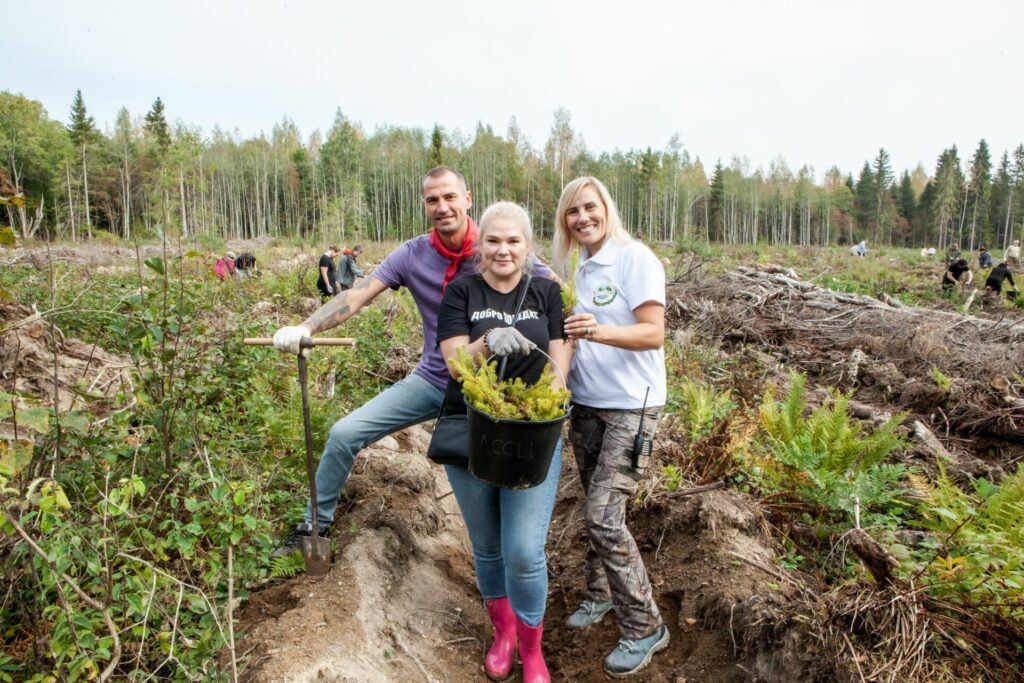
[[(301, 325), (281, 328), (273, 335), (278, 350), (308, 352), (299, 349), (302, 337), (337, 327), (389, 288), (408, 288), (423, 318), (423, 353), (413, 373), (331, 427), (316, 469), (321, 536), (330, 530), (338, 496), (358, 452), (392, 432), (437, 416), (450, 377), (437, 346), (437, 311), (447, 284), (476, 267), (476, 259), (471, 258), (476, 253), (476, 224), (468, 214), (472, 206), (473, 195), (461, 174), (445, 166), (431, 170), (423, 177), (423, 208), (433, 229), (403, 243), (369, 278), (328, 301)], [(535, 272), (551, 275), (543, 264), (538, 264)], [(305, 520), (272, 557), (298, 549), (302, 537), (312, 529), (311, 516), (307, 504)]]

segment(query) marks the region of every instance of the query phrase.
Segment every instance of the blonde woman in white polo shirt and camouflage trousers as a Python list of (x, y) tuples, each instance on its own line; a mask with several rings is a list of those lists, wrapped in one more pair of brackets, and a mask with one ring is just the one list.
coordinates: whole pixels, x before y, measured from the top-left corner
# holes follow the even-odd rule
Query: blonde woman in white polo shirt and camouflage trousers
[[(625, 677), (669, 644), (669, 629), (626, 526), (626, 504), (643, 477), (666, 400), (665, 268), (623, 227), (597, 178), (565, 186), (555, 222), (556, 266), (564, 272), (572, 251), (580, 250), (578, 303), (565, 333), (578, 340), (568, 379), (569, 439), (587, 494), (589, 537), (587, 587), (567, 626), (589, 628), (614, 608), (621, 639), (604, 669)], [(647, 449), (635, 452), (638, 433)]]

